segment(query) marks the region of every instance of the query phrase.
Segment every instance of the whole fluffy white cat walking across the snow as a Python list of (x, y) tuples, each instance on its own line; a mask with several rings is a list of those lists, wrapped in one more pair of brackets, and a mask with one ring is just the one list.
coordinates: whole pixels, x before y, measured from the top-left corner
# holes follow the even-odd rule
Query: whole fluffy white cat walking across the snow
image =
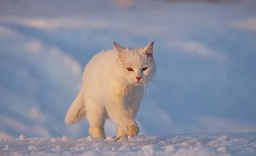
[(134, 119), (144, 95), (144, 87), (155, 75), (154, 41), (143, 48), (125, 48), (113, 42), (84, 68), (81, 89), (65, 117), (66, 124), (86, 115), (92, 137), (105, 138), (106, 118), (118, 124), (116, 138), (138, 135)]

